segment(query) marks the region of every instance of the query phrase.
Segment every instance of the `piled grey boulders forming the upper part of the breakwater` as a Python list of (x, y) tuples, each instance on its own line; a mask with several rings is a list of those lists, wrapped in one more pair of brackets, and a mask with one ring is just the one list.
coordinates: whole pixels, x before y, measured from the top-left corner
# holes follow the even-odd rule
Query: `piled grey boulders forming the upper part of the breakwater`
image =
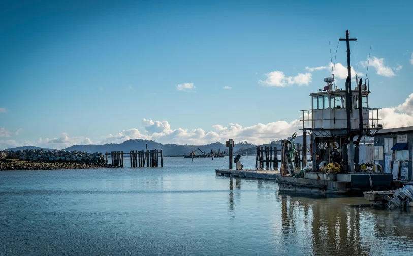
[(39, 162), (79, 162), (79, 163), (105, 163), (102, 153), (88, 153), (76, 150), (34, 150), (25, 149), (18, 151), (0, 151), (0, 160), (19, 159)]

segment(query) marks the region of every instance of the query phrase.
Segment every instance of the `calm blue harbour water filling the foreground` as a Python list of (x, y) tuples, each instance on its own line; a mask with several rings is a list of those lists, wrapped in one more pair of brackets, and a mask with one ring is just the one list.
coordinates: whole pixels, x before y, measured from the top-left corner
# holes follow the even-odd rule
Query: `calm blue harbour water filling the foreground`
[[(252, 167), (255, 157), (241, 160)], [(410, 213), (215, 176), (227, 162), (0, 172), (0, 254), (413, 254)]]

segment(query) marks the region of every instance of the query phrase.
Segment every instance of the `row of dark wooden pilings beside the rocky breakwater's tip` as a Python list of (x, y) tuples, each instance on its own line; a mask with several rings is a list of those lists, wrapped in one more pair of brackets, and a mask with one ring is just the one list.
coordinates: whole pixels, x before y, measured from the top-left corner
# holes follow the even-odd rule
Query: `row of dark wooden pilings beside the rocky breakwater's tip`
[(161, 167), (164, 167), (164, 158), (161, 150), (130, 150), (129, 153), (123, 151), (106, 152), (106, 162), (108, 162), (108, 155), (110, 155), (112, 165), (124, 167), (123, 156), (129, 155), (131, 167), (158, 167), (159, 159), (161, 158)]

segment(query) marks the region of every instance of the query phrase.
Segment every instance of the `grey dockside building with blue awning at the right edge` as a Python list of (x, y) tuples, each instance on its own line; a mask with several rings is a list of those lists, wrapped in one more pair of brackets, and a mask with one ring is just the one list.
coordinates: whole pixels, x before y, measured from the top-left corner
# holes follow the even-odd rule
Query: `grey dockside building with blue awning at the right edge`
[(398, 169), (398, 179), (412, 180), (413, 126), (383, 129), (374, 135), (374, 163), (385, 173)]

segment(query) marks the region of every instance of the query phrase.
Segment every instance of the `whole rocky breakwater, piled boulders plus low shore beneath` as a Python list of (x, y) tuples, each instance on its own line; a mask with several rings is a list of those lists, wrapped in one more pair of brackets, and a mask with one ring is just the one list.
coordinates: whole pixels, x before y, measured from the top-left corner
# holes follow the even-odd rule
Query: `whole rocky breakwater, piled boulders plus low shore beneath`
[(79, 169), (108, 168), (102, 153), (76, 150), (18, 150), (0, 151), (0, 170), (10, 169)]

